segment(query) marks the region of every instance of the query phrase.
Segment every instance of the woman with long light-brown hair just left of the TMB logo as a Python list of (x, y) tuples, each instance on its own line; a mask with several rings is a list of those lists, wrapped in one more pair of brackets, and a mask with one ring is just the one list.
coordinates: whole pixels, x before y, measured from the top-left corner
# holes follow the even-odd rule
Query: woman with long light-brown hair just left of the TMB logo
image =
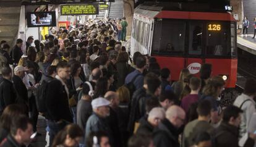
[(180, 98), (181, 92), (186, 86), (184, 79), (190, 74), (188, 69), (182, 69), (181, 73), (179, 74), (179, 80), (174, 82), (172, 86), (173, 92), (176, 94), (177, 98)]

